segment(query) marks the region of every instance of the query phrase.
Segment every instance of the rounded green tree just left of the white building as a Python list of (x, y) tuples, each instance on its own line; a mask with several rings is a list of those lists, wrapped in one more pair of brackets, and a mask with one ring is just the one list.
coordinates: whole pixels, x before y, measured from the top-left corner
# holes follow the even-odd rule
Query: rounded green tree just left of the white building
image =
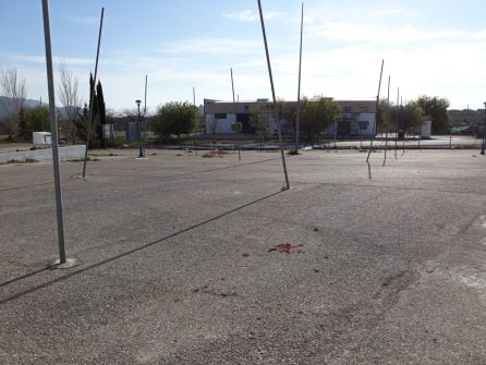
[(161, 137), (174, 134), (180, 138), (194, 130), (196, 120), (197, 108), (191, 102), (170, 101), (157, 108), (151, 130)]

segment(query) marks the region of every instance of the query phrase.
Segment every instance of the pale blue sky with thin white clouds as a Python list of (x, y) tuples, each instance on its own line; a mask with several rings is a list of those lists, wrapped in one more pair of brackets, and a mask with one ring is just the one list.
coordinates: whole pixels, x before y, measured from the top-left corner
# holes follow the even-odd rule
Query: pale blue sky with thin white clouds
[[(296, 98), (301, 1), (262, 0), (279, 98)], [(133, 109), (148, 74), (149, 110), (170, 100), (270, 97), (256, 0), (51, 0), (56, 76), (65, 62), (86, 99), (101, 7), (98, 76), (108, 108)], [(486, 3), (309, 0), (304, 4), (302, 94), (404, 101), (437, 95), (452, 108), (486, 100)], [(47, 100), (40, 0), (0, 0), (0, 66), (16, 68), (28, 98)]]

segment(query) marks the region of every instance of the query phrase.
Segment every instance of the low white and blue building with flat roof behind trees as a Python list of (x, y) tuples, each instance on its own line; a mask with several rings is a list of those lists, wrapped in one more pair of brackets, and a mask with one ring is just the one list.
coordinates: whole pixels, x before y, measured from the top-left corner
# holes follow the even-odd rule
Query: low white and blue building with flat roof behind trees
[[(376, 101), (375, 100), (336, 100), (341, 105), (341, 114), (338, 121), (323, 131), (323, 136), (338, 137), (363, 137), (373, 136), (376, 133)], [(295, 114), (297, 102), (284, 101), (285, 108)], [(212, 99), (204, 100), (204, 114), (207, 134), (232, 134), (231, 125), (234, 122), (242, 123), (242, 133), (255, 133), (250, 123), (250, 117), (255, 110), (268, 110), (271, 134), (277, 134), (278, 124), (274, 118), (274, 102), (268, 99), (252, 101), (220, 101)], [(291, 113), (285, 113), (291, 114)], [(281, 117), (283, 135), (295, 133), (293, 120)], [(289, 118), (290, 119), (290, 118)]]

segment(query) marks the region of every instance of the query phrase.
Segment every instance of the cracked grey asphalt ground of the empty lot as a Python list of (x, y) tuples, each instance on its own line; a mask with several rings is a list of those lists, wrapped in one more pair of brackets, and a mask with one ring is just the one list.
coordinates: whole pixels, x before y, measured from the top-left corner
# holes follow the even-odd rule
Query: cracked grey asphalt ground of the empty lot
[(276, 153), (108, 155), (62, 163), (65, 270), (52, 166), (0, 167), (1, 364), (486, 364), (477, 153), (309, 151), (283, 192)]

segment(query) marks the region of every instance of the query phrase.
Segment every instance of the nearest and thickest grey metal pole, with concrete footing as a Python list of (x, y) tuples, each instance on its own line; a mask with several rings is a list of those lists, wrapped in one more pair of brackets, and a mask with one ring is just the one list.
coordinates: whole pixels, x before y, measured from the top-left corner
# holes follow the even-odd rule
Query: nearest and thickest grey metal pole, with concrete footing
[(50, 44), (49, 4), (42, 0), (44, 37), (46, 42), (47, 86), (49, 93), (49, 119), (52, 144), (52, 167), (54, 173), (56, 210), (58, 218), (59, 264), (65, 264), (64, 218), (62, 215), (61, 174), (59, 172), (58, 121), (56, 117), (54, 82), (52, 72), (52, 51)]

